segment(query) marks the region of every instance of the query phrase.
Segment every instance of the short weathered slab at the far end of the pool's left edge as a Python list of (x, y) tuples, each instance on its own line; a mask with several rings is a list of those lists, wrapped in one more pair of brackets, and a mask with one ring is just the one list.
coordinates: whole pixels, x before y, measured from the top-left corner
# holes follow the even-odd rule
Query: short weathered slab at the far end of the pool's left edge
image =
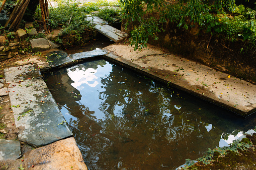
[(4, 72), (7, 83), (42, 77), (40, 70), (34, 64), (6, 68)]

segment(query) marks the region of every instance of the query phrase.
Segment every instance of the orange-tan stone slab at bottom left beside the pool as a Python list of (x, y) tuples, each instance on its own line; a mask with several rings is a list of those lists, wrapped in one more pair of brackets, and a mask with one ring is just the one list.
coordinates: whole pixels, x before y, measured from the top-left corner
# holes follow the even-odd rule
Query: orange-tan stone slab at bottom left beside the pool
[(26, 152), (24, 161), (28, 169), (88, 169), (73, 137)]

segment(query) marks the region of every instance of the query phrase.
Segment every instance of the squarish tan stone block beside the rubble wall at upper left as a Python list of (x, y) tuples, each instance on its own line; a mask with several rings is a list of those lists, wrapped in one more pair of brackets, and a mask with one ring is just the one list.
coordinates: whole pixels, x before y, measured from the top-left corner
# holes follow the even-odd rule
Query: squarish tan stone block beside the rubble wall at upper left
[(33, 52), (50, 50), (51, 46), (44, 38), (38, 38), (30, 40), (31, 48)]

